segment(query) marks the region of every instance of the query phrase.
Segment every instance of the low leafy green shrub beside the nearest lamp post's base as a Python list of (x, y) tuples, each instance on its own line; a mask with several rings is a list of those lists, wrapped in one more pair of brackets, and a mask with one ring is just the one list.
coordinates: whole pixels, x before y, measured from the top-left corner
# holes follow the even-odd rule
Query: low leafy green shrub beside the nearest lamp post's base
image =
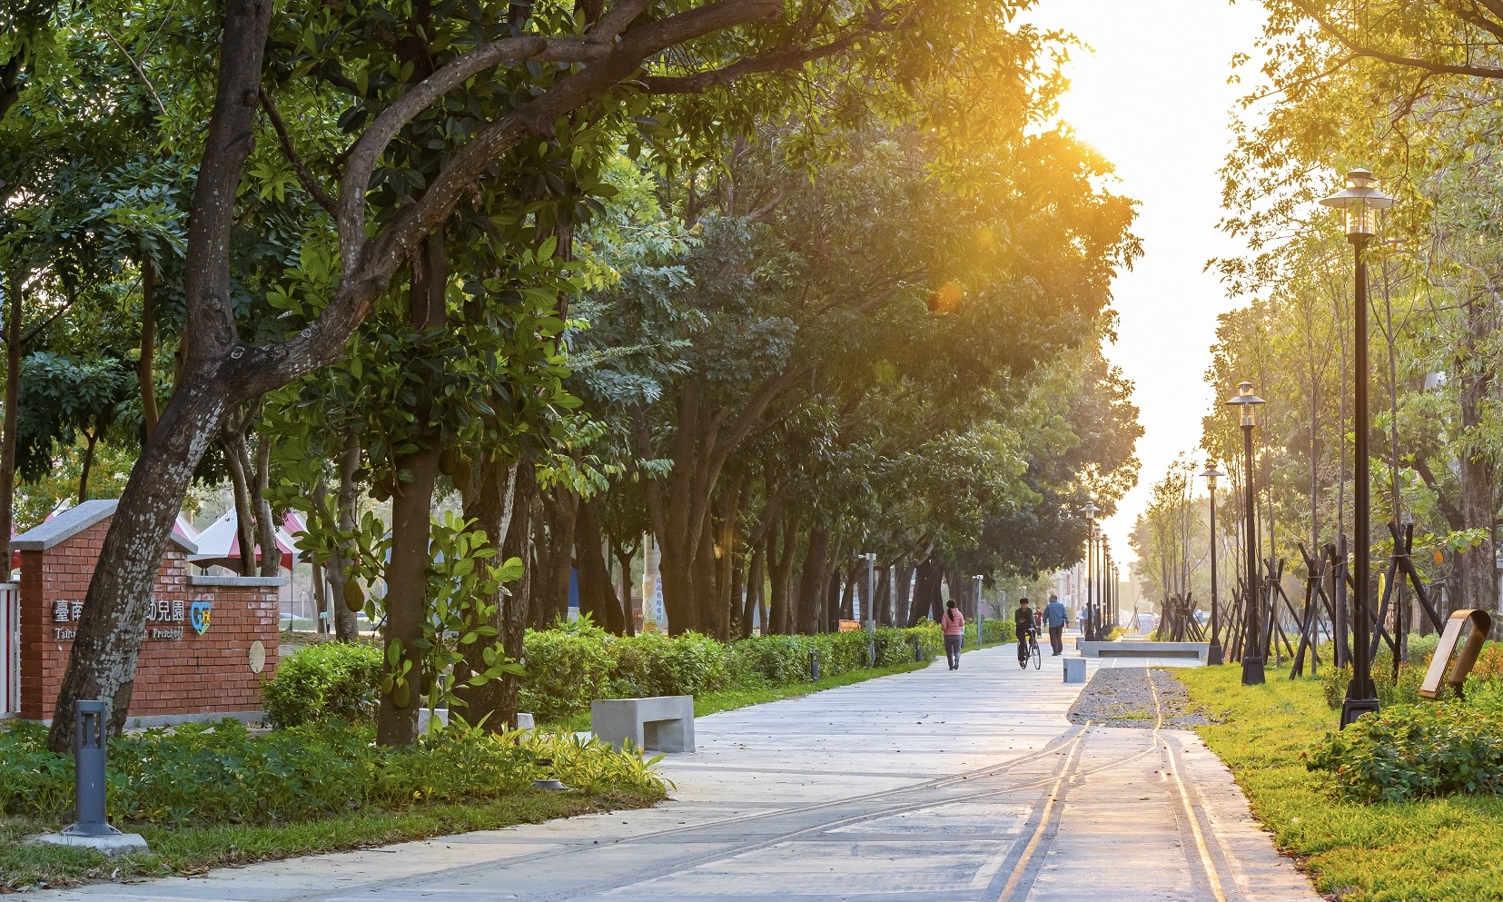
[(1338, 795), (1408, 801), (1503, 789), (1503, 722), (1464, 702), (1395, 705), (1327, 732), (1308, 755)]

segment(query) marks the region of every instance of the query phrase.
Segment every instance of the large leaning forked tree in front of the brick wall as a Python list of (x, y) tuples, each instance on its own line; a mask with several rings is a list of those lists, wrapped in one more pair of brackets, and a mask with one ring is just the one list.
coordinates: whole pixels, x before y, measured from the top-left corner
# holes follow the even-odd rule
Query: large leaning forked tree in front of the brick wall
[[(571, 114), (592, 104), (609, 113), (615, 125), (643, 110), (657, 92), (724, 99), (717, 90), (738, 80), (771, 86), (803, 77), (806, 66), (834, 56), (846, 57), (848, 71), (861, 72), (867, 60), (881, 60), (882, 71), (896, 53), (909, 80), (879, 95), (891, 104), (935, 72), (956, 77), (971, 66), (1018, 66), (1019, 59), (1033, 65), (1031, 57), (1019, 57), (1016, 51), (1037, 45), (1031, 32), (1006, 42), (977, 41), (981, 35), (1007, 35), (1006, 17), (990, 6), (915, 5), (900, 11), (849, 9), (839, 15), (816, 6), (795, 9), (780, 20), (782, 6), (767, 0), (718, 0), (676, 12), (652, 8), (646, 0), (625, 0), (609, 11), (585, 11), (579, 18), (538, 8), (531, 20), (511, 23), (513, 36), (431, 48), (437, 54), (427, 62), (431, 74), (407, 84), (392, 77), (403, 66), (403, 48), (385, 42), (392, 32), (380, 17), (329, 8), (289, 12), (293, 20), (305, 12), (314, 18), (286, 30), (284, 26), (295, 23), (278, 18), (278, 39), (269, 42), (272, 5), (233, 0), (219, 27), (194, 35), (201, 39), (218, 33), (219, 54), (212, 93), (192, 98), (201, 101), (198, 110), (207, 113), (209, 125), (186, 241), (180, 374), (122, 495), (86, 597), (50, 738), (57, 749), (69, 744), (71, 713), (78, 698), (111, 699), (111, 729), (123, 723), (140, 636), (119, 624), (140, 619), (176, 508), (224, 413), (347, 353), (349, 338), (376, 299), (472, 195), (497, 158), (529, 140), (553, 140)], [(355, 21), (340, 21), (340, 15)], [(497, 9), (494, 18), (500, 21), (505, 14)], [(552, 36), (544, 36), (544, 30)], [(663, 54), (672, 47), (691, 47), (693, 53)], [(349, 56), (329, 56), (328, 48)], [(691, 62), (684, 65), (687, 60)], [(941, 60), (947, 60), (947, 69), (941, 69)], [(231, 262), (240, 222), (237, 198), (254, 149), (268, 63), (289, 77), (293, 90), (320, 84), (328, 86), (320, 90), (359, 96), (343, 119), (343, 126), (359, 131), (359, 137), (340, 156), (337, 197), (317, 182), (319, 173), (302, 164), (298, 141), (280, 140), (298, 183), (328, 210), (328, 229), (338, 235), (334, 257), (338, 266), (316, 317), (283, 323), (281, 335), (251, 343), (239, 331)], [(473, 137), (427, 182), (421, 198), (371, 218), (368, 189), (380, 183), (377, 170), (391, 140), (415, 117), (439, 108), (452, 90), (502, 65), (534, 74), (537, 90), (519, 92), (516, 104), (476, 122)], [(637, 81), (643, 66), (648, 72), (640, 86), (648, 93), (621, 87)], [(356, 78), (347, 69), (355, 69)], [(278, 99), (283, 98), (274, 96), (272, 102)], [(311, 98), (307, 108), (317, 108)], [(726, 122), (738, 120), (748, 107), (735, 110), (738, 114)], [(197, 110), (185, 108), (182, 114), (194, 120)], [(933, 119), (938, 122), (938, 116)]]

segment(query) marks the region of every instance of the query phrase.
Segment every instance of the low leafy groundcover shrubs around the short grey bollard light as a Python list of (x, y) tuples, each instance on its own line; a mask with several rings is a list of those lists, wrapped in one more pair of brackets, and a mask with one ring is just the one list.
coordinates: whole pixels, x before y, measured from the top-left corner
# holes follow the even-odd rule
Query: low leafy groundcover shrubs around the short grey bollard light
[[(110, 813), (150, 824), (271, 824), (496, 798), (546, 776), (588, 791), (664, 786), (639, 755), (562, 734), (451, 726), (409, 749), (373, 738), (368, 726), (349, 725), (257, 735), (236, 720), (126, 735), (110, 746)], [(47, 750), (45, 728), (18, 723), (0, 734), (0, 813), (62, 819), (72, 782), (72, 758)]]

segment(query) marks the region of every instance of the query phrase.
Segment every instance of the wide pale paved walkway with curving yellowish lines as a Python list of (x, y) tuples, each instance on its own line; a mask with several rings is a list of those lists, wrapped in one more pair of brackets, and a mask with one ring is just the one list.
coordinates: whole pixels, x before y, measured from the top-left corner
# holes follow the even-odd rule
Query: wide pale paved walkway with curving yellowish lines
[(649, 810), (44, 896), (1318, 900), (1193, 734), (1073, 726), (1081, 687), (1060, 672), (1019, 670), (1006, 646), (705, 717), (699, 753), (666, 762), (673, 801)]

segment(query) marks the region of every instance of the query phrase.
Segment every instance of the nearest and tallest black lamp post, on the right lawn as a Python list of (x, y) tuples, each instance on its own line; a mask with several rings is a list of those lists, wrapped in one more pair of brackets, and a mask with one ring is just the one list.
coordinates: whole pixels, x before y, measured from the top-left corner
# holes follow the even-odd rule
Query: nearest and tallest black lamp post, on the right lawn
[(1354, 406), (1353, 416), (1353, 532), (1356, 534), (1351, 550), (1351, 585), (1353, 585), (1353, 649), (1351, 649), (1351, 683), (1347, 686), (1347, 699), (1341, 704), (1341, 726), (1357, 720), (1368, 711), (1378, 710), (1377, 692), (1372, 686), (1372, 661), (1368, 655), (1368, 616), (1372, 589), (1368, 580), (1372, 579), (1369, 558), (1372, 555), (1372, 534), (1369, 519), (1369, 478), (1368, 478), (1368, 265), (1363, 251), (1368, 242), (1378, 233), (1377, 212), (1393, 206), (1393, 198), (1374, 188), (1377, 179), (1368, 170), (1351, 170), (1347, 173), (1347, 186), (1321, 200), (1324, 206), (1347, 210), (1347, 241), (1351, 242), (1356, 263), (1356, 296), (1353, 298), (1354, 316)]

